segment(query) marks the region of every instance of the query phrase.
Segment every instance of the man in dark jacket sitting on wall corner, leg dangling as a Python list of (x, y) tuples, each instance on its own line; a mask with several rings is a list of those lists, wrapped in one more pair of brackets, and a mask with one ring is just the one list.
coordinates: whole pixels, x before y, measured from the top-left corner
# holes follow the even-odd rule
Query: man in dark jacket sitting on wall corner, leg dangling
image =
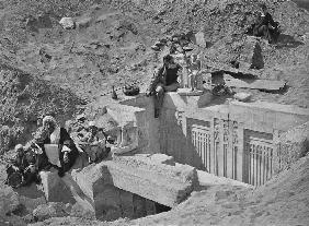
[(174, 62), (174, 58), (167, 55), (163, 58), (163, 66), (153, 74), (146, 95), (154, 97), (154, 118), (160, 115), (164, 92), (175, 92), (180, 87), (178, 76), (181, 70), (182, 67)]

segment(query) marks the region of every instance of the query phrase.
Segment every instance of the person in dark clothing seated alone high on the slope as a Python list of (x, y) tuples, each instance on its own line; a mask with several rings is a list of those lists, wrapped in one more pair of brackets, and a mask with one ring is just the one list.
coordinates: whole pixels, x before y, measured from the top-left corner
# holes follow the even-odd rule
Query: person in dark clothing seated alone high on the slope
[(262, 13), (253, 27), (253, 35), (265, 37), (270, 44), (273, 44), (278, 37), (278, 24), (274, 22), (265, 4), (261, 4), (261, 9)]

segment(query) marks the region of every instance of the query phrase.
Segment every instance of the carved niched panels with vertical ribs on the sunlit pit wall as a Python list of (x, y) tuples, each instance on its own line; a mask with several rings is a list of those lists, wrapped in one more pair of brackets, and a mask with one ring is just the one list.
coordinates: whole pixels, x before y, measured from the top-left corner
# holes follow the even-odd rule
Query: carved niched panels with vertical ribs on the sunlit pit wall
[(253, 186), (263, 185), (273, 175), (271, 133), (244, 130), (237, 120), (214, 118), (210, 122), (188, 118), (187, 134), (203, 169), (210, 174)]

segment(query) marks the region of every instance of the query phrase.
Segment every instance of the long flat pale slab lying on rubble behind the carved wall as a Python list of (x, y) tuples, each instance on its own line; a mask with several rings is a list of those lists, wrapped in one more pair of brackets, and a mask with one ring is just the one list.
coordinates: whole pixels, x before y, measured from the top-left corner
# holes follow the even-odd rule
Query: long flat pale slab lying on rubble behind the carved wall
[(276, 80), (240, 80), (231, 75), (225, 74), (225, 83), (229, 87), (251, 88), (251, 90), (265, 90), (278, 91), (286, 85), (286, 81)]

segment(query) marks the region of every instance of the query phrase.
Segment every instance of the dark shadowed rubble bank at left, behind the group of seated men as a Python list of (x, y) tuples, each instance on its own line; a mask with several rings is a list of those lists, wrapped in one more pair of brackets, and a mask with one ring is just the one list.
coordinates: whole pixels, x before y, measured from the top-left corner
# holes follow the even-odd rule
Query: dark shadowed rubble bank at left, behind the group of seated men
[[(24, 142), (37, 119), (54, 115), (64, 122), (82, 100), (68, 91), (8, 64), (0, 66), (0, 151)], [(0, 152), (0, 153), (1, 153)]]

